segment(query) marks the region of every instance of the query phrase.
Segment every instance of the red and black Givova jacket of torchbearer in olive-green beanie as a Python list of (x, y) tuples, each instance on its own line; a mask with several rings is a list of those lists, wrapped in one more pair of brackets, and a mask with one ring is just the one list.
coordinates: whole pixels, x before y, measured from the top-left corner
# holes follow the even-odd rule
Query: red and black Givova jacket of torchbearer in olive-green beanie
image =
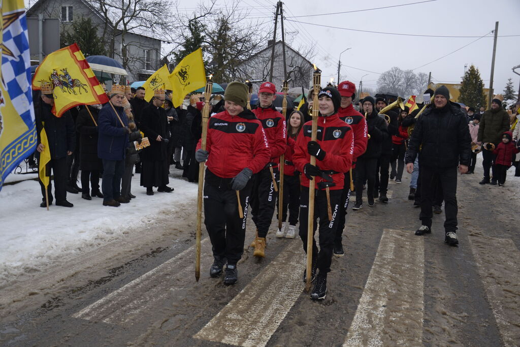
[[(197, 144), (201, 147), (202, 139)], [(227, 111), (210, 117), (207, 126), (207, 169), (222, 178), (235, 177), (244, 168), (257, 173), (269, 162), (271, 151), (262, 123), (250, 110)]]

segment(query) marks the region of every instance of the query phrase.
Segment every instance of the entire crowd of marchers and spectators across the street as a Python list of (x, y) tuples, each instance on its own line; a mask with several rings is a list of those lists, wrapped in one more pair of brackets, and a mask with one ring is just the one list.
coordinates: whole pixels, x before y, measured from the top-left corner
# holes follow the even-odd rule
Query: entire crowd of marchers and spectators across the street
[[(247, 85), (232, 82), (224, 98), (187, 95), (183, 105), (175, 108), (168, 91), (155, 90), (146, 101), (142, 87), (113, 85), (107, 104), (75, 108), (57, 118), (51, 113), (53, 90), (42, 86), (36, 125), (38, 134), (44, 127), (49, 139), (48, 170), (54, 174), (55, 204), (72, 207), (67, 192), (79, 191), (83, 199), (102, 198), (109, 207), (128, 203), (136, 198), (131, 192), (134, 172), (147, 195), (154, 194), (153, 188), (171, 193), (171, 165), (197, 183), (199, 163), (205, 162), (204, 223), (214, 257), (210, 276), (225, 272), (224, 283), (232, 285), (238, 280), (249, 211), (256, 228), (253, 255), (266, 256), (283, 165), (282, 215), (277, 215), (283, 223), (276, 237), (295, 238), (297, 233), (307, 251), (309, 189), (314, 185), (313, 232), (319, 226), (319, 237), (318, 242), (313, 237), (312, 272), (304, 271), (303, 280), (311, 276), (310, 297), (322, 300), (332, 256), (344, 255), (342, 233), (352, 192), (354, 211), (363, 208), (364, 195), (368, 207), (374, 206), (375, 199), (387, 203), (389, 180), (401, 183), (406, 166), (411, 174), (408, 198), (420, 207), (421, 225), (415, 235), (432, 232), (432, 213), (441, 213), (444, 203), (445, 242), (457, 246), (457, 172), (474, 173), (477, 153), (482, 151), (480, 184), (503, 186), (506, 171), (520, 159), (520, 126), (516, 126), (520, 115), (511, 118), (500, 96), (493, 98), (489, 110), (469, 108), (466, 113), (440, 86), (428, 89), (424, 104), (412, 112), (408, 107), (388, 107), (385, 98), (371, 96), (359, 101), (358, 111), (353, 102), (356, 86), (343, 81), (320, 89), (317, 95), (311, 90), (307, 104), (282, 115), (273, 104), (274, 84), (259, 86), (257, 105), (248, 105), (249, 93)], [(313, 140), (310, 105), (315, 98), (319, 117)], [(204, 102), (209, 102), (212, 116), (202, 149)], [(37, 152), (42, 149), (38, 142)], [(516, 175), (519, 169), (517, 165)], [(53, 195), (49, 184), (46, 201), (41, 186), (45, 207), (53, 202)]]

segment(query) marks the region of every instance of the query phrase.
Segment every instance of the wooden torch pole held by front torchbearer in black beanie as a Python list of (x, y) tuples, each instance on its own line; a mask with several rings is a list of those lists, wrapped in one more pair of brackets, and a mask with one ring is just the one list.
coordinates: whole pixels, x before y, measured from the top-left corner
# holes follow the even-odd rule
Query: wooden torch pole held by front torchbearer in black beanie
[[(311, 128), (311, 141), (316, 141), (316, 132), (318, 130), (318, 93), (320, 92), (321, 85), (321, 71), (315, 68), (313, 74), (314, 84), (314, 98), (313, 98), (313, 126)], [(316, 157), (310, 156), (310, 164), (316, 165)], [(313, 239), (314, 239), (314, 177), (309, 181), (309, 213), (307, 220), (307, 282), (305, 284), (305, 290), (310, 290), (310, 279), (313, 277)]]

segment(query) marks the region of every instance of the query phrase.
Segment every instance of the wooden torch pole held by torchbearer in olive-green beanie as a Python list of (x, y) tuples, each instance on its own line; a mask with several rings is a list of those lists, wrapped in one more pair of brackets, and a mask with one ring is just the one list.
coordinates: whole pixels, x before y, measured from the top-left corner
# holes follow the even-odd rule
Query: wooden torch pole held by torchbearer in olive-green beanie
[[(204, 90), (204, 107), (202, 108), (202, 135), (201, 135), (201, 146), (202, 150), (206, 150), (206, 138), (207, 138), (207, 123), (210, 119), (210, 97), (213, 90), (213, 82), (211, 82), (211, 76), (209, 81), (206, 82), (206, 88)], [(200, 242), (201, 242), (201, 228), (202, 228), (202, 190), (204, 187), (204, 162), (199, 163), (199, 191), (197, 195), (197, 229), (195, 233), (195, 279), (197, 282), (200, 278)]]

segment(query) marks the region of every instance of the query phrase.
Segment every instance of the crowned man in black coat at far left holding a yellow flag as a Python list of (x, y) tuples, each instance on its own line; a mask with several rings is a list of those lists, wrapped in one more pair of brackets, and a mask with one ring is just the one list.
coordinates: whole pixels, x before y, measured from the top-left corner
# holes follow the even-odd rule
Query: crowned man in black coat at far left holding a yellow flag
[[(76, 134), (74, 130), (74, 122), (70, 113), (67, 111), (58, 118), (52, 113), (54, 105), (54, 94), (52, 86), (49, 83), (42, 85), (41, 100), (34, 108), (36, 128), (38, 130), (38, 146), (36, 150), (43, 151), (44, 145), (41, 143), (40, 133), (42, 127), (45, 127), (47, 134), (50, 162), (47, 164), (48, 176), (50, 176), (50, 169), (54, 175), (54, 194), (56, 196), (56, 205), (64, 207), (73, 207), (74, 205), (67, 201), (67, 156), (71, 156), (76, 145)], [(39, 155), (39, 154), (38, 154)], [(43, 202), (41, 207), (46, 207), (45, 201), (45, 186), (41, 181)], [(49, 181), (47, 186), (47, 193), (49, 197), (49, 205), (53, 202), (52, 184)]]

